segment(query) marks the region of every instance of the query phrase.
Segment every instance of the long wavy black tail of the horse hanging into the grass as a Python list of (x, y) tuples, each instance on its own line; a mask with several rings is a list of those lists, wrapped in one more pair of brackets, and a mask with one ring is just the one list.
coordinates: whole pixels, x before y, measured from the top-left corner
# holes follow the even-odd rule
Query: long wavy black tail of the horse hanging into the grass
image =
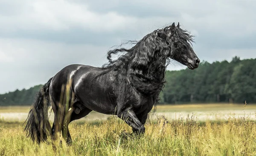
[[(26, 119), (26, 136), (30, 137), (33, 142), (45, 142), (47, 140), (47, 135), (51, 129), (48, 110), (49, 110), (49, 86), (52, 78), (43, 85), (43, 87), (38, 92), (35, 102), (33, 103), (28, 118)], [(26, 122), (25, 121), (25, 122)]]

